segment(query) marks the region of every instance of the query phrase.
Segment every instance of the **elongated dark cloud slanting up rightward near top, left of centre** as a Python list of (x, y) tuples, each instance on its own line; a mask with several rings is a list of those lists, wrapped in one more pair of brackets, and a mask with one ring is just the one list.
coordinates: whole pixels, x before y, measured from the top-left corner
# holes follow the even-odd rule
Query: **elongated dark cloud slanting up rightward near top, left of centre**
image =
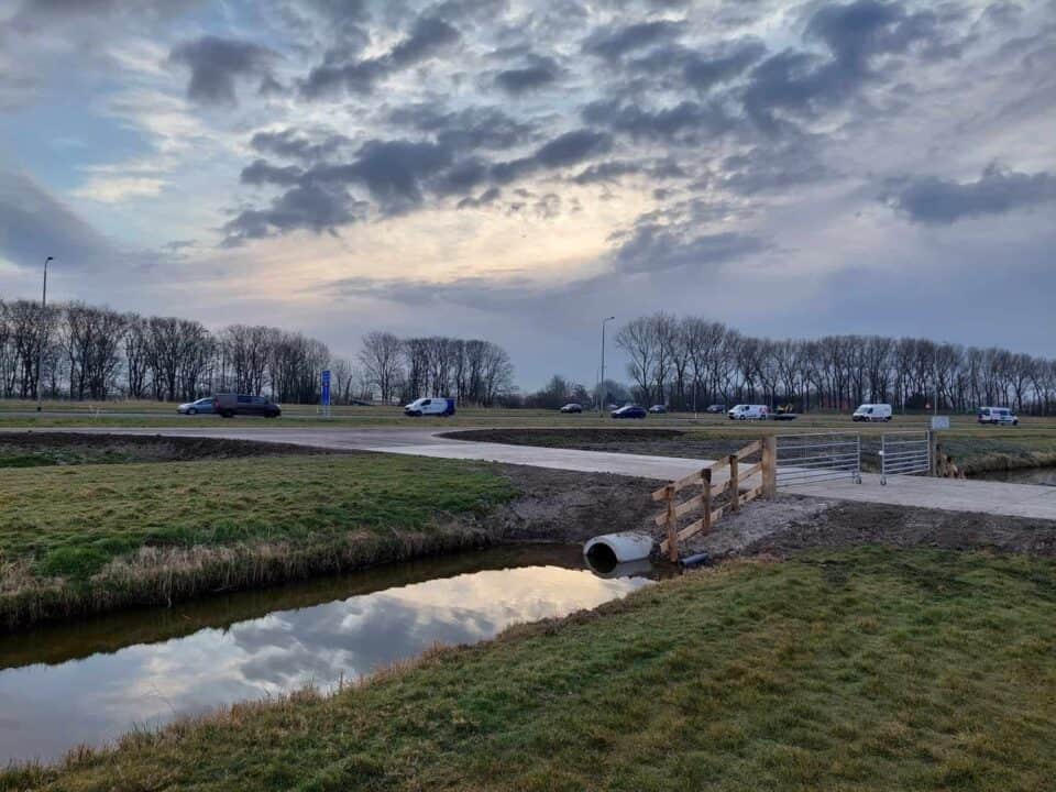
[(441, 53), (461, 37), (459, 31), (444, 20), (419, 16), (410, 33), (384, 55), (341, 63), (331, 53), (327, 62), (311, 69), (300, 81), (300, 95), (306, 99), (320, 99), (342, 89), (349, 94), (369, 95), (387, 75)]

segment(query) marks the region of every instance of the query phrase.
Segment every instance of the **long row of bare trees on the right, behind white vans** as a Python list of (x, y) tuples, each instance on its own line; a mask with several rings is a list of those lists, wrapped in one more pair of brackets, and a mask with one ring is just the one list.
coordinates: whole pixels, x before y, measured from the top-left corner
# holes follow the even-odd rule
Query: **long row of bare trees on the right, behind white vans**
[(616, 345), (628, 358), (635, 398), (673, 409), (734, 402), (803, 411), (867, 402), (923, 409), (936, 399), (938, 409), (955, 411), (1056, 408), (1056, 361), (998, 348), (882, 336), (772, 340), (667, 312), (627, 322)]

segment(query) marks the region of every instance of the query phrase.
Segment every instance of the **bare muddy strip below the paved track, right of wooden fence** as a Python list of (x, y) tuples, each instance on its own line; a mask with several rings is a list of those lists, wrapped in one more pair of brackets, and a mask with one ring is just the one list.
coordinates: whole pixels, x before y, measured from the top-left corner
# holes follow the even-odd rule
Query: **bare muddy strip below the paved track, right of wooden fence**
[(862, 544), (1056, 554), (1056, 522), (967, 512), (784, 495), (756, 501), (693, 537), (683, 552), (787, 557), (800, 550)]

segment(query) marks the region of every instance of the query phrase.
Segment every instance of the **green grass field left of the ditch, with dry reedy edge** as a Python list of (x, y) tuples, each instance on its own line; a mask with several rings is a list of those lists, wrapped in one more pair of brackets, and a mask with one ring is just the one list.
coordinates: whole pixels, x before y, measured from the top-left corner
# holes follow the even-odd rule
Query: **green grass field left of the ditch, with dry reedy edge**
[(382, 454), (85, 465), (0, 477), (0, 628), (480, 543), (486, 465)]

